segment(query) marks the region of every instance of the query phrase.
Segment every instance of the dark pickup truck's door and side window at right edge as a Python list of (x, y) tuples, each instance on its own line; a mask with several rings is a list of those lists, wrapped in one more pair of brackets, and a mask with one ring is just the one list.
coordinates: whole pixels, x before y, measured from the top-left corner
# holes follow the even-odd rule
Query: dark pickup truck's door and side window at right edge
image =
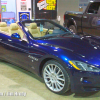
[(100, 2), (91, 3), (83, 14), (83, 32), (100, 36)]

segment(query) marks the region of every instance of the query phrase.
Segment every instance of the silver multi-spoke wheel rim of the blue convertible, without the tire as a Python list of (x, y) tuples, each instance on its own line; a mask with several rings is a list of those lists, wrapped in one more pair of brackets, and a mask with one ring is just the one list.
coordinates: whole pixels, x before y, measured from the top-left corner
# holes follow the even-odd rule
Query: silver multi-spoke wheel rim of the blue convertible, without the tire
[(55, 64), (48, 64), (44, 68), (43, 77), (46, 86), (54, 92), (60, 92), (65, 86), (64, 74)]

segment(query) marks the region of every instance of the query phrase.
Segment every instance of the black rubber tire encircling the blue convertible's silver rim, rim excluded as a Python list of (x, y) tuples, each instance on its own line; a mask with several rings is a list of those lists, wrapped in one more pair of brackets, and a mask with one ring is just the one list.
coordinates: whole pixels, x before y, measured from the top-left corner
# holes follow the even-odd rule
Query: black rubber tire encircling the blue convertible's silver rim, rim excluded
[[(52, 91), (52, 92), (54, 92), (54, 93), (57, 93), (57, 94), (63, 94), (63, 93), (65, 93), (65, 92), (67, 92), (67, 91), (70, 89), (70, 77), (69, 77), (67, 71), (66, 71), (66, 70), (63, 68), (63, 66), (62, 66), (60, 63), (58, 63), (56, 60), (50, 60), (50, 61), (47, 61), (47, 62), (44, 64), (43, 69), (42, 69), (42, 76), (43, 76), (44, 68), (45, 68), (48, 64), (56, 64), (56, 65), (62, 70), (62, 72), (63, 72), (63, 74), (64, 74), (64, 77), (65, 77), (65, 86), (64, 86), (64, 88), (63, 88), (61, 91), (59, 91), (59, 92), (54, 92), (54, 91), (52, 91), (52, 90), (49, 89), (48, 86), (45, 84), (46, 87), (47, 87), (50, 91)], [(43, 80), (44, 80), (44, 77), (43, 77)], [(44, 82), (45, 82), (45, 81), (44, 81)]]

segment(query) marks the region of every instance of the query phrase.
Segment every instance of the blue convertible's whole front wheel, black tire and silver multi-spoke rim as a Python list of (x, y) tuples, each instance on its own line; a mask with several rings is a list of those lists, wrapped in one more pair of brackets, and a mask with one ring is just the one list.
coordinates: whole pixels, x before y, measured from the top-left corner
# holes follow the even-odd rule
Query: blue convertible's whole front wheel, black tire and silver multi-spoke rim
[(57, 61), (47, 61), (43, 66), (42, 75), (46, 87), (52, 92), (64, 94), (70, 89), (70, 77)]

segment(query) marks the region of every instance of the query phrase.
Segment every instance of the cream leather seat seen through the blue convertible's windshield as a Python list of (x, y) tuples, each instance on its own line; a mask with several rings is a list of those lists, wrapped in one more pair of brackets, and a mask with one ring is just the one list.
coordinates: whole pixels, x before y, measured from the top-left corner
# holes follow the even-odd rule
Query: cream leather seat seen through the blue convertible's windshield
[(41, 37), (41, 33), (38, 30), (36, 23), (31, 23), (30, 24), (29, 32), (32, 34), (33, 37)]

